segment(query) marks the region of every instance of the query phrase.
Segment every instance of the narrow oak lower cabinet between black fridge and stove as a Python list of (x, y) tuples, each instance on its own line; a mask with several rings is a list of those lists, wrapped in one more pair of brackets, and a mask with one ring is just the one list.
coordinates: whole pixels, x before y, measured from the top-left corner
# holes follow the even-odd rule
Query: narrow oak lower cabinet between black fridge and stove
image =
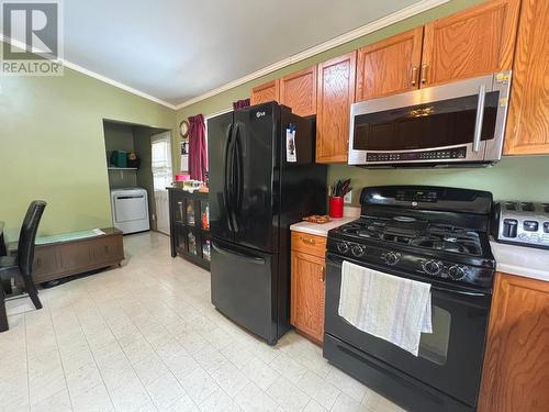
[(290, 322), (318, 344), (324, 336), (325, 247), (324, 237), (292, 233)]

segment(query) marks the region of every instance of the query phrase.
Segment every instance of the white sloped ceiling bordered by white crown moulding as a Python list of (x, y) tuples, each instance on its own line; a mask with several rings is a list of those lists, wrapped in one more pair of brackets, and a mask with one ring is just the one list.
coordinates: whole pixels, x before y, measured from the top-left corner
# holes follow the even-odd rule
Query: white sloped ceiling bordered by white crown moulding
[(172, 104), (419, 0), (65, 0), (65, 58)]

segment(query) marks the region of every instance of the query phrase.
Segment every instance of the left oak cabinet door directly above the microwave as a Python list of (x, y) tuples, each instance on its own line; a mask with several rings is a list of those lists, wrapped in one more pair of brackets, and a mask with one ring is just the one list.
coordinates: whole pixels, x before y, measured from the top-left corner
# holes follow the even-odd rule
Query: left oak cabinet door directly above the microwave
[(423, 26), (368, 45), (357, 54), (357, 101), (418, 88)]

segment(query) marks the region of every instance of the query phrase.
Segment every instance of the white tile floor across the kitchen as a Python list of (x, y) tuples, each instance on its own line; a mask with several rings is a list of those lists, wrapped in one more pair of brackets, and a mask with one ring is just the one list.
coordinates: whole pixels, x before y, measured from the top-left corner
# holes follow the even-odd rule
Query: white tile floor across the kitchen
[(210, 303), (166, 236), (124, 237), (122, 268), (8, 302), (1, 411), (401, 411), (288, 333), (276, 347)]

